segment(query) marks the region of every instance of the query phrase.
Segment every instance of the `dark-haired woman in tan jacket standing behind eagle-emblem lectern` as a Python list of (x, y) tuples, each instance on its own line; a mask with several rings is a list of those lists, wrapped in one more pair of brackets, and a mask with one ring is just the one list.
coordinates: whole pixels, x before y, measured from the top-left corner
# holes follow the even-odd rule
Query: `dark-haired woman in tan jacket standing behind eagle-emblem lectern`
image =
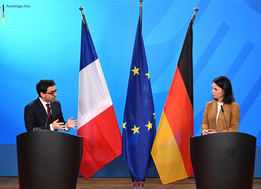
[(214, 100), (209, 101), (205, 107), (201, 134), (215, 133), (216, 129), (237, 132), (240, 110), (239, 105), (235, 103), (229, 79), (225, 76), (215, 78), (212, 82), (212, 94)]

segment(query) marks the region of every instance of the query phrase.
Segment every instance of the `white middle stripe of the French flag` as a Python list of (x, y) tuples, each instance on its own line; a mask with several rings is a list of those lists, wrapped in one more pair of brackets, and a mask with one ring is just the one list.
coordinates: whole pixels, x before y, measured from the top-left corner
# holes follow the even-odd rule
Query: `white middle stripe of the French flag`
[(87, 65), (79, 75), (78, 129), (112, 105), (99, 59)]

